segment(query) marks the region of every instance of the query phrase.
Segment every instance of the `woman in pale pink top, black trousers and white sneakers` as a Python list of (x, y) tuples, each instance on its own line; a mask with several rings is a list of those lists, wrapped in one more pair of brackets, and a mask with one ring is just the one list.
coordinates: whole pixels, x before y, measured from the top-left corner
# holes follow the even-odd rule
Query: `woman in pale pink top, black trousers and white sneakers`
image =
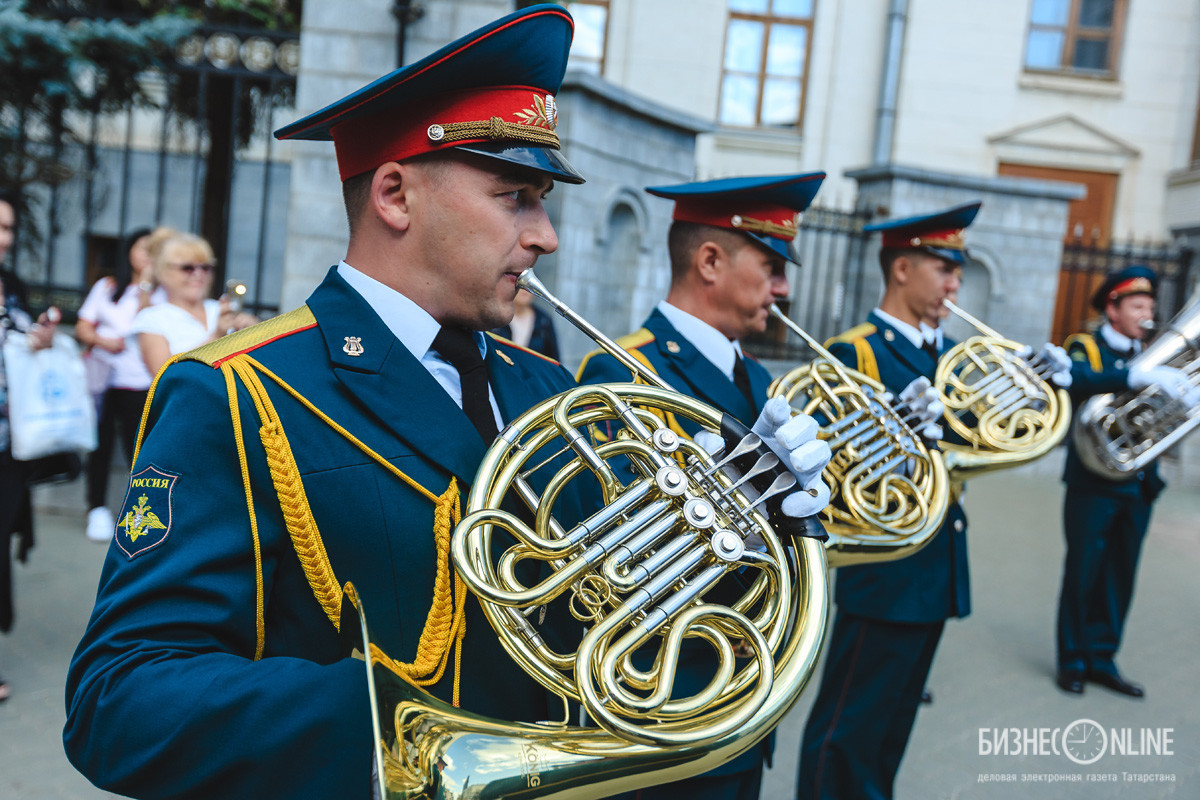
[(103, 375), (96, 450), (88, 457), (86, 533), (88, 539), (97, 542), (108, 541), (115, 530), (104, 498), (116, 429), (120, 428), (125, 457), (132, 464), (142, 407), (150, 389), (151, 375), (136, 342), (130, 339), (138, 312), (166, 299), (155, 288), (150, 240), (149, 228), (139, 228), (125, 237), (116, 275), (96, 282), (79, 307), (76, 323), (76, 338), (91, 348), (90, 357)]

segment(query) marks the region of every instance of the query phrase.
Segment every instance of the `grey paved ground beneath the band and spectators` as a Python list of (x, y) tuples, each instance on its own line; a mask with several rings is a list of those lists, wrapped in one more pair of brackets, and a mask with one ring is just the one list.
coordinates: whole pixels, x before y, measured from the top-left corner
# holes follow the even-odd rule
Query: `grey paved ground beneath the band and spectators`
[[(935, 702), (917, 720), (900, 770), (900, 798), (1200, 796), (1200, 493), (1168, 489), (1144, 552), (1121, 666), (1146, 684), (1146, 699), (1093, 686), (1082, 697), (1068, 697), (1051, 682), (1063, 551), (1056, 462), (971, 485), (974, 613), (947, 626), (930, 678)], [(0, 672), (13, 690), (0, 705), (0, 798), (8, 800), (112, 796), (71, 768), (60, 744), (66, 664), (88, 619), (103, 557), (103, 547), (83, 536), (82, 497), (80, 483), (38, 491), (37, 549), (16, 569), (17, 627), (0, 637)], [(802, 699), (780, 728), (764, 800), (792, 794), (808, 703)], [(1061, 729), (1080, 718), (1098, 722), (1108, 735), (1128, 728), (1135, 744), (1142, 729), (1170, 736), (1171, 754), (1108, 753), (1080, 766), (1054, 753), (980, 753), (980, 729), (1018, 728), (1022, 736), (1037, 736), (1037, 729)], [(995, 776), (1014, 780), (985, 781)], [(1144, 782), (1146, 776), (1171, 780)]]

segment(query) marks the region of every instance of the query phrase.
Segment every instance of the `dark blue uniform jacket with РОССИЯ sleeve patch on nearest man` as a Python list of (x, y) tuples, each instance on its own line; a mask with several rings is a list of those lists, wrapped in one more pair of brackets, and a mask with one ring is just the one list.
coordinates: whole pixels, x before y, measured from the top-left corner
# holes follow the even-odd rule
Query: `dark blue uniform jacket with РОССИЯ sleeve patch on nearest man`
[[(467, 416), (336, 270), (307, 308), (307, 320), (290, 315), (300, 324), (251, 355), (434, 495), (457, 479), (466, 505), (485, 452)], [(236, 336), (264, 339), (260, 326)], [(347, 337), (361, 355), (347, 353)], [(505, 420), (575, 385), (556, 362), (492, 339), (486, 363)], [(337, 581), (358, 587), (372, 640), (412, 661), (433, 596), (432, 504), (264, 384)], [(121, 794), (366, 798), (365, 668), (347, 657), (301, 571), (240, 384), (238, 401), (262, 553), (263, 658), (253, 660), (256, 547), (226, 384), (184, 361), (157, 383), (133, 467), (134, 477), (169, 485), (145, 492), (166, 533), (130, 541), (118, 527), (67, 678), (66, 750), (94, 783)], [(142, 493), (131, 492), (122, 518)], [(569, 517), (587, 501), (564, 503)], [(503, 651), (478, 602), (467, 606), (462, 706), (552, 718), (546, 692)], [(431, 687), (445, 700), (452, 673), (451, 663)]]

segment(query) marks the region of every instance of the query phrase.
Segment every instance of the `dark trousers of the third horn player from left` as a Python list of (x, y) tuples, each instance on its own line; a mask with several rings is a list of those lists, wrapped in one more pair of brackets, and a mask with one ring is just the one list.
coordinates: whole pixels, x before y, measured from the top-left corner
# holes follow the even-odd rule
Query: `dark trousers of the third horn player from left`
[(946, 622), (834, 618), (796, 796), (890, 798)]

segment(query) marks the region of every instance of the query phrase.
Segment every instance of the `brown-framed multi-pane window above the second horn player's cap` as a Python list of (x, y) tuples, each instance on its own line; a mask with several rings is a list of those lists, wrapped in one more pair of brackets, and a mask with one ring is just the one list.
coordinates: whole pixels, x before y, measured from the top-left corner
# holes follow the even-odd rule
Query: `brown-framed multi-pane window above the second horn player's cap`
[(797, 127), (804, 113), (814, 0), (730, 0), (719, 119)]

